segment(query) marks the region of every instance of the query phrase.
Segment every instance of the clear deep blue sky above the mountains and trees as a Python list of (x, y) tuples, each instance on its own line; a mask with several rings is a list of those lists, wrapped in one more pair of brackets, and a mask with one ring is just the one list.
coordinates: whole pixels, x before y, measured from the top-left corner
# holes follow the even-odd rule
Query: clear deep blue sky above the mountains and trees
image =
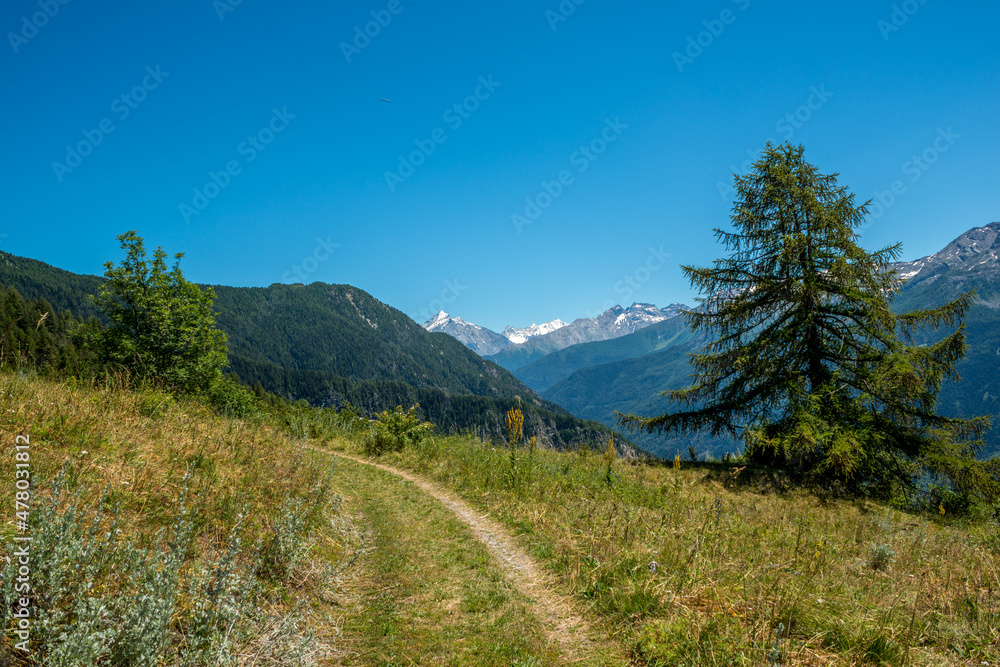
[(299, 267), (499, 329), (690, 302), (768, 138), (896, 182), (869, 247), (1000, 219), (995, 3), (233, 2), (4, 3), (0, 248), (99, 274), (134, 228), (198, 282)]

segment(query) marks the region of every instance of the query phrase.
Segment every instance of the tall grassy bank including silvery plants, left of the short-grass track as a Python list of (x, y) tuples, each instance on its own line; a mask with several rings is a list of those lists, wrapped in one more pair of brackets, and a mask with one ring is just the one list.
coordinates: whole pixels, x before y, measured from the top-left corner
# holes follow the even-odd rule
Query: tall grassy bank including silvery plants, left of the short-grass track
[[(332, 428), (325, 419), (301, 435)], [(316, 664), (303, 605), (321, 604), (350, 545), (328, 461), (295, 445), (287, 422), (3, 373), (0, 431), (0, 493), (14, 497), (18, 435), (33, 489), (30, 652), (11, 633), (22, 533), (5, 514), (0, 664)]]

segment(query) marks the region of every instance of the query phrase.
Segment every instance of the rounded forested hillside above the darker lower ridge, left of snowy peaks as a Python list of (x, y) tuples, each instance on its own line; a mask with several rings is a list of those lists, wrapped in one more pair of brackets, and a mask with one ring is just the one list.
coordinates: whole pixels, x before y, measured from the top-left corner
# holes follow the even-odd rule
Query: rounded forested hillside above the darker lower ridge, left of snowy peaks
[(288, 370), (513, 399), (530, 392), (451, 336), (349, 285), (214, 287), (233, 355)]

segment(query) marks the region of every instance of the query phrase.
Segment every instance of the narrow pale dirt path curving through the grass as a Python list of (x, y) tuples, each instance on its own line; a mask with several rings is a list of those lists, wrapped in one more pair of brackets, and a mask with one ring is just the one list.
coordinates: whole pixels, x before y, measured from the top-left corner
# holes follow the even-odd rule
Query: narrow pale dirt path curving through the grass
[[(436, 484), (406, 471), (341, 451), (318, 447), (309, 447), (309, 449), (324, 454), (342, 456), (356, 463), (369, 465), (405, 479), (453, 512), (507, 570), (511, 583), (537, 606), (535, 613), (543, 631), (551, 645), (558, 647), (565, 662), (589, 662), (588, 659), (596, 658), (599, 661), (596, 664), (600, 664), (603, 662), (600, 658), (612, 657), (609, 655), (610, 647), (601, 646), (588, 636), (594, 634), (592, 628), (573, 610), (572, 605), (565, 598), (552, 593), (555, 589), (555, 581), (542, 572), (538, 564), (517, 545), (514, 538), (501, 525), (486, 516), (481, 516), (466, 502), (454, 497)], [(612, 661), (618, 662), (617, 660)]]

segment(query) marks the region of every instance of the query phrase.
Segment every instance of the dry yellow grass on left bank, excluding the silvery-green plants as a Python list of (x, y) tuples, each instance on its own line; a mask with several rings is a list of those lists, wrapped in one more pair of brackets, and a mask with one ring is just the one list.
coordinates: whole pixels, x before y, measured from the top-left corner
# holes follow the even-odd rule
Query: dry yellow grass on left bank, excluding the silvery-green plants
[[(153, 554), (158, 549), (163, 552), (173, 539), (184, 496), (193, 535), (180, 568), (168, 655), (189, 641), (185, 633), (190, 631), (195, 610), (205, 603), (197, 591), (188, 590), (194, 585), (192, 578), (198, 572), (220, 576), (219, 568), (230, 567), (225, 565), (226, 553), (233, 548), (233, 571), (241, 577), (252, 576), (263, 562), (260, 549), (288, 520), (288, 499), (310, 497), (311, 493), (315, 496), (331, 464), (329, 457), (317, 456), (295, 443), (272, 418), (222, 418), (195, 400), (155, 390), (124, 391), (112, 384), (91, 387), (4, 372), (0, 374), (0, 437), (4, 443), (0, 494), (11, 502), (4, 502), (8, 509), (0, 527), (0, 558), (9, 555), (10, 538), (19, 534), (12, 500), (18, 436), (21, 442), (30, 443), (31, 505), (36, 517), (40, 516), (37, 508), (51, 493), (53, 479), (62, 470), (63, 507), (69, 507), (79, 494), (78, 505), (100, 508), (105, 522), (102, 526), (110, 526), (114, 515), (121, 531), (119, 542)], [(247, 624), (246, 632), (233, 630), (230, 638), (232, 655), (244, 664), (271, 664), (267, 661), (284, 650), (278, 644), (289, 638), (301, 640), (301, 652), (310, 660), (322, 651), (322, 642), (309, 637), (318, 623), (325, 623), (323, 614), (330, 612), (326, 596), (330, 575), (352, 548), (352, 528), (344, 524), (336, 511), (336, 499), (332, 500), (332, 504), (322, 506), (322, 516), (311, 519), (312, 529), (308, 537), (303, 536), (311, 547), (293, 572), (273, 581), (262, 579), (262, 588), (254, 589), (252, 600), (239, 599), (250, 595), (247, 591), (252, 587), (238, 584), (239, 578), (232, 580), (237, 582), (234, 586), (243, 586), (232, 593), (236, 596), (233, 604), (249, 605), (247, 611), (252, 615), (240, 619)], [(115, 506), (116, 514), (112, 512)], [(89, 512), (81, 513), (80, 520), (89, 521), (89, 516)], [(37, 528), (33, 524), (32, 532)], [(157, 542), (161, 530), (166, 537)], [(231, 547), (237, 533), (239, 543)], [(42, 555), (34, 558), (40, 562)], [(39, 567), (38, 562), (33, 567)], [(86, 563), (69, 566), (84, 568)], [(120, 572), (108, 570), (95, 576), (96, 584), (86, 593), (95, 599), (113, 599), (135, 590), (135, 584), (123, 581)], [(210, 582), (206, 585), (211, 590)], [(75, 604), (63, 598), (58, 598), (58, 604)], [(44, 603), (33, 599), (35, 605)], [(296, 609), (299, 613), (293, 613)], [(220, 632), (224, 634), (225, 629)], [(5, 641), (10, 641), (10, 633), (5, 634)], [(22, 664), (36, 664), (34, 660), (43, 659), (52, 648), (43, 641), (34, 645), (34, 658), (18, 654), (17, 659)]]

